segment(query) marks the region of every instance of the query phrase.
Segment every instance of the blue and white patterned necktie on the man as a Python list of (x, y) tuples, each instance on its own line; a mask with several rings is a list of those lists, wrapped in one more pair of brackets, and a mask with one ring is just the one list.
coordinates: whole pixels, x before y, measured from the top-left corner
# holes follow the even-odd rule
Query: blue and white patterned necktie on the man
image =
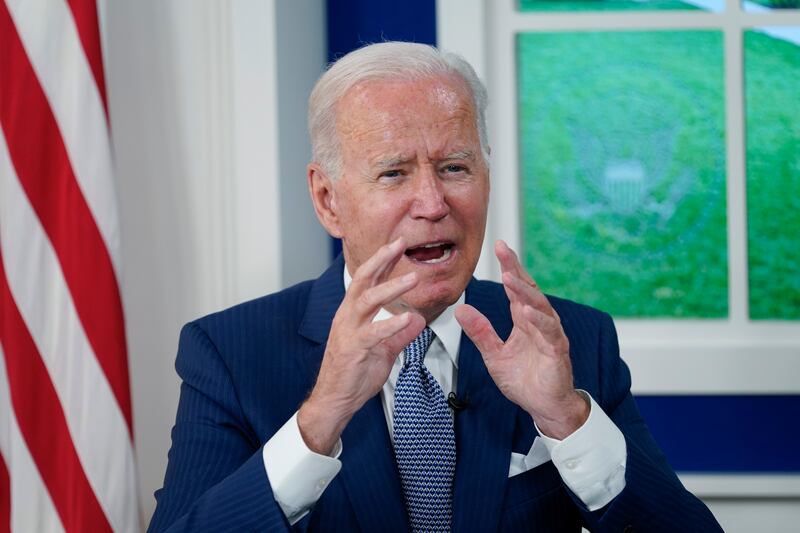
[(456, 437), (442, 388), (423, 361), (433, 340), (425, 328), (405, 349), (394, 391), (394, 451), (411, 530), (450, 531)]

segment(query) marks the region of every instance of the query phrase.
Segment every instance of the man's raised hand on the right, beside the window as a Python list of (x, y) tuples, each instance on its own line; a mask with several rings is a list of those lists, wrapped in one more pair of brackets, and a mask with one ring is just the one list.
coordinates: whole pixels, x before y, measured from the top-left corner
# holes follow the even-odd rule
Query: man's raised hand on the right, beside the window
[(514, 328), (506, 342), (489, 320), (470, 305), (456, 319), (480, 350), (500, 391), (525, 409), (547, 436), (563, 439), (589, 416), (589, 406), (575, 391), (569, 340), (558, 314), (511, 248), (495, 244), (503, 286), (511, 303)]

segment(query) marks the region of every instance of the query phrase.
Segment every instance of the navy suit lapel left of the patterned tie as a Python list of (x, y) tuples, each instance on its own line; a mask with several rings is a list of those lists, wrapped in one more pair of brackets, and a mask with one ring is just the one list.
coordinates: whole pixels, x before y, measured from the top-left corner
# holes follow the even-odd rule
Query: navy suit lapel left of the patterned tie
[[(298, 332), (316, 345), (299, 359), (314, 383), (331, 323), (344, 298), (344, 260), (340, 255), (312, 285)], [(408, 531), (400, 477), (386, 427), (380, 395), (362, 407), (342, 434), (344, 483), (363, 531)]]

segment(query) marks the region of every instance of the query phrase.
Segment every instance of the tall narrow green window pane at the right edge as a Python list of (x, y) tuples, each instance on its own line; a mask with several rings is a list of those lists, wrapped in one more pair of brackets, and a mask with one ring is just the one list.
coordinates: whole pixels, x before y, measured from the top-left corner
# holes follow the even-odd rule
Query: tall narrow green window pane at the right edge
[(800, 319), (800, 28), (745, 32), (750, 316)]

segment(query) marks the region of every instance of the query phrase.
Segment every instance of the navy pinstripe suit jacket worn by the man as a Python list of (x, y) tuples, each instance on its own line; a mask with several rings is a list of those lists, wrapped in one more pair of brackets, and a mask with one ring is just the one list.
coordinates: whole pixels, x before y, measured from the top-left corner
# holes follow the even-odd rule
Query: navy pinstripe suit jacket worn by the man
[[(164, 487), (150, 531), (407, 531), (400, 482), (378, 396), (342, 435), (342, 470), (312, 512), (290, 527), (275, 502), (261, 447), (305, 399), (344, 296), (341, 257), (317, 280), (187, 324), (176, 361), (183, 379)], [(576, 387), (587, 390), (625, 435), (626, 488), (589, 512), (547, 462), (508, 478), (511, 452), (527, 453), (536, 430), (461, 340), (453, 531), (720, 531), (680, 484), (630, 394), (611, 318), (550, 298), (570, 340)], [(507, 338), (502, 286), (472, 280), (466, 301)]]

